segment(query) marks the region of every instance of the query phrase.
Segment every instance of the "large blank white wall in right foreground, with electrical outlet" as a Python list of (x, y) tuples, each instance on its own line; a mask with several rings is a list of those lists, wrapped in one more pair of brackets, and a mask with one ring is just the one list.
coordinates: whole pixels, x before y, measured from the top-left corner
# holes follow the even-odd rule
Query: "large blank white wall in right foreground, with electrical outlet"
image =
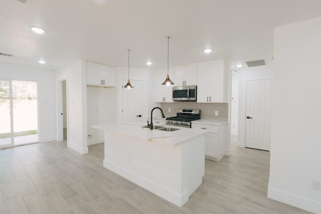
[(275, 29), (268, 197), (321, 213), (321, 17)]

